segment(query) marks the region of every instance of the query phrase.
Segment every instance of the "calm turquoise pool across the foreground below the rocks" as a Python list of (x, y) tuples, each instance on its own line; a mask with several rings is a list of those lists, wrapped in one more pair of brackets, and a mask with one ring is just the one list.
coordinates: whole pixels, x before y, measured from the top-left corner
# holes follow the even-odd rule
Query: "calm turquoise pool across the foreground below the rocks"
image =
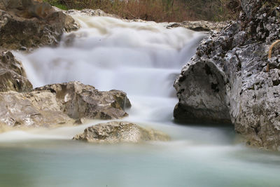
[(224, 140), (228, 142), (215, 145), (188, 139), (117, 145), (59, 139), (1, 143), (0, 186), (279, 186), (279, 153)]

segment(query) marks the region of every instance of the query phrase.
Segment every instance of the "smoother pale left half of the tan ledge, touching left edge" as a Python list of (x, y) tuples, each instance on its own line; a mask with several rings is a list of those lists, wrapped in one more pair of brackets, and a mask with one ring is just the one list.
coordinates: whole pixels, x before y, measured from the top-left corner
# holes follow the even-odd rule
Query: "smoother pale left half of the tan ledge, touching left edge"
[(9, 127), (48, 127), (72, 124), (52, 92), (0, 93), (0, 123)]

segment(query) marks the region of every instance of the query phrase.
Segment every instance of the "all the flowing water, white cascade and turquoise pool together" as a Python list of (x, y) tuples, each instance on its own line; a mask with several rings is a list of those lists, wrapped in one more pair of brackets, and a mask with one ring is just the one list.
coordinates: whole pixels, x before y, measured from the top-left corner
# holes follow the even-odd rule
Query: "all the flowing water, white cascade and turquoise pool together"
[[(125, 120), (167, 132), (170, 142), (71, 141), (87, 125), (0, 134), (0, 186), (276, 186), (279, 153), (235, 144), (230, 126), (175, 125), (173, 82), (205, 36), (155, 22), (74, 16), (82, 29), (57, 48), (16, 53), (34, 87), (81, 81), (127, 92)], [(14, 180), (17, 179), (17, 180)]]

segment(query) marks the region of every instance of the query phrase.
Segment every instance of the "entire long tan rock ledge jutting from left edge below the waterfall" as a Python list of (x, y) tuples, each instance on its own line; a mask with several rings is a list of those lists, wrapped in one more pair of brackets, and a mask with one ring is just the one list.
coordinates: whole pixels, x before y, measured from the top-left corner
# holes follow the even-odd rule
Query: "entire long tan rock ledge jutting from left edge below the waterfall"
[(73, 124), (85, 119), (127, 116), (130, 101), (125, 92), (99, 92), (79, 82), (45, 85), (31, 92), (0, 93), (0, 123), (14, 126)]

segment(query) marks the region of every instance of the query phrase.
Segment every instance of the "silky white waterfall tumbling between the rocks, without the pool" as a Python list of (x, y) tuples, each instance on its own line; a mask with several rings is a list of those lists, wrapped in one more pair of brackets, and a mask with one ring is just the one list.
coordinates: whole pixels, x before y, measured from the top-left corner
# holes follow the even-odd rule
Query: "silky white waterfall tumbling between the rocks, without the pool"
[(155, 22), (75, 16), (82, 28), (57, 48), (17, 54), (34, 87), (80, 81), (99, 90), (123, 90), (131, 118), (172, 120), (173, 83), (206, 34)]

